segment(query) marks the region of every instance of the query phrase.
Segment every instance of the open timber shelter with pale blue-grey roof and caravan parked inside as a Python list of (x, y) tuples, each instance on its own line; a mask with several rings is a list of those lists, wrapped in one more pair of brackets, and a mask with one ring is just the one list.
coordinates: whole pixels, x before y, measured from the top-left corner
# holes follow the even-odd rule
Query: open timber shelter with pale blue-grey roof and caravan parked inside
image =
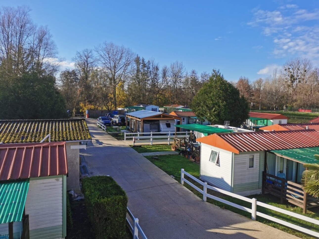
[[(180, 117), (160, 112), (140, 110), (125, 114), (126, 126), (133, 132), (173, 132)], [(129, 120), (128, 120), (129, 119)]]

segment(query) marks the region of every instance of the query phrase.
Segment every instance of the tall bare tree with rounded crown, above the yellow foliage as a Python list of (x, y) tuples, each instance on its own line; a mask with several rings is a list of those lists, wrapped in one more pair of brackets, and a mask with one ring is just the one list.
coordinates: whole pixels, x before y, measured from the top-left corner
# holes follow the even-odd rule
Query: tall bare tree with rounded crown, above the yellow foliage
[(98, 54), (101, 66), (108, 71), (113, 91), (114, 107), (116, 108), (116, 86), (129, 73), (134, 54), (130, 48), (117, 46), (112, 42), (104, 42), (96, 47), (95, 51)]

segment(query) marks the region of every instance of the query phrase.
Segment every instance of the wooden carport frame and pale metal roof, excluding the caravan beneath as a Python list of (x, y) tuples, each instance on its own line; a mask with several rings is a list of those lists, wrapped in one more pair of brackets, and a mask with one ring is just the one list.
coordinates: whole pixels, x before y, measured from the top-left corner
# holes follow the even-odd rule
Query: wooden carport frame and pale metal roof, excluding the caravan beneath
[(128, 126), (128, 119), (130, 122), (130, 131), (144, 132), (144, 124), (152, 124), (156, 120), (181, 120), (181, 117), (165, 114), (161, 112), (154, 112), (148, 110), (139, 110), (125, 114), (126, 127)]

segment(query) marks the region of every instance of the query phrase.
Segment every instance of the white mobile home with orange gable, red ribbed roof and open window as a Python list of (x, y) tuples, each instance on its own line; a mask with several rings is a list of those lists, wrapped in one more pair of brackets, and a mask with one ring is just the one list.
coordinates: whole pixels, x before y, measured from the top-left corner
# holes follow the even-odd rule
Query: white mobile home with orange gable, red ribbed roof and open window
[[(263, 189), (269, 189), (269, 181), (272, 185), (274, 178), (282, 178), (280, 182), (285, 180), (303, 192), (300, 185), (304, 170), (302, 165), (308, 161), (301, 151), (308, 151), (308, 156), (317, 152), (319, 132), (295, 130), (213, 134), (197, 141), (201, 142), (200, 177), (207, 183), (246, 196), (261, 193)], [(296, 154), (289, 156), (282, 150)], [(275, 186), (279, 183), (277, 181)], [(303, 195), (298, 196), (299, 201), (291, 200), (292, 196), (286, 196), (284, 185), (280, 192), (285, 195), (281, 195), (281, 198), (299, 203), (301, 207), (303, 200), (306, 200), (307, 207), (314, 203), (311, 198), (302, 198)]]

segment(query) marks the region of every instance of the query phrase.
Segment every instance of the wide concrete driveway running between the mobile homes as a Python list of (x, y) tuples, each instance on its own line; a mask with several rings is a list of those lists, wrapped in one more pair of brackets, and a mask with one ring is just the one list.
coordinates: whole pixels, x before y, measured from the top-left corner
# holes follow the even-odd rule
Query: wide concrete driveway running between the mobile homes
[(126, 191), (128, 206), (149, 239), (297, 238), (219, 208), (87, 120), (92, 144), (81, 149), (93, 175), (110, 175)]

